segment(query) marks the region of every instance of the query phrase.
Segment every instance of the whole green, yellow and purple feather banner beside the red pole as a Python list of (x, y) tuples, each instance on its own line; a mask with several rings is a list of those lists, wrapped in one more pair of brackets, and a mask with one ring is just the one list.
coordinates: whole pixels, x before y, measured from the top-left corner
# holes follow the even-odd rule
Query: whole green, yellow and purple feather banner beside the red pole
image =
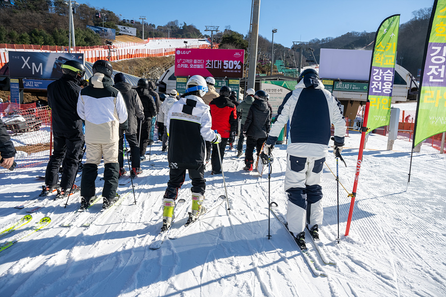
[(385, 19), (377, 31), (368, 93), (370, 110), (367, 127), (369, 132), (378, 127), (387, 126), (390, 122), (398, 28), (399, 14), (395, 14)]

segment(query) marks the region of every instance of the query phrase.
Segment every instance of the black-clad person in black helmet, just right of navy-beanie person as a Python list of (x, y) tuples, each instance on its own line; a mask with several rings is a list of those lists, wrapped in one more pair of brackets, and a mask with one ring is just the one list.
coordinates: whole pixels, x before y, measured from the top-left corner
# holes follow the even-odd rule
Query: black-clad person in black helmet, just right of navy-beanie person
[(141, 99), (141, 103), (144, 108), (144, 121), (142, 121), (142, 129), (141, 129), (141, 121), (138, 121), (138, 137), (140, 137), (139, 141), (139, 153), (141, 156), (141, 161), (146, 158), (146, 149), (149, 145), (150, 141), (150, 131), (152, 128), (152, 117), (157, 115), (157, 106), (155, 105), (154, 98), (149, 93), (149, 81), (145, 78), (141, 78), (138, 81), (138, 88), (136, 89), (136, 93), (138, 93), (139, 98)]

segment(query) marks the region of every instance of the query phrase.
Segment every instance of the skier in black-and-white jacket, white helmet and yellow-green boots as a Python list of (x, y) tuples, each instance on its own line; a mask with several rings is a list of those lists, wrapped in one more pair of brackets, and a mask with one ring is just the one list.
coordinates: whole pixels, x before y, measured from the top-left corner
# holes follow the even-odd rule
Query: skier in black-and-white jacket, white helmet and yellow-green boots
[(162, 230), (167, 230), (171, 224), (175, 200), (178, 189), (184, 183), (186, 169), (192, 180), (192, 212), (189, 221), (196, 220), (206, 212), (202, 205), (206, 189), (205, 141), (218, 144), (222, 140), (221, 136), (211, 129), (210, 108), (202, 99), (207, 91), (205, 79), (200, 75), (192, 76), (186, 83), (184, 97), (173, 103), (166, 115), (169, 137), (167, 160), (170, 171), (163, 198)]

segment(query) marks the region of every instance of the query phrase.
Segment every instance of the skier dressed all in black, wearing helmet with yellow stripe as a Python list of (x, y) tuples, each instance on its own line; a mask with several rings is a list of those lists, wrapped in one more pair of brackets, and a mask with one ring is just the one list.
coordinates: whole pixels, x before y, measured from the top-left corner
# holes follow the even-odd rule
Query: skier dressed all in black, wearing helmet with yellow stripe
[(79, 165), (79, 153), (84, 142), (82, 120), (77, 114), (77, 99), (81, 90), (80, 82), (85, 74), (85, 66), (76, 60), (68, 60), (62, 65), (62, 77), (48, 86), (48, 105), (51, 107), (53, 125), (53, 154), (48, 161), (45, 173), (45, 189), (57, 188), (57, 170), (63, 162), (60, 178), (60, 191), (57, 198), (62, 198), (79, 191), (74, 185), (75, 174)]

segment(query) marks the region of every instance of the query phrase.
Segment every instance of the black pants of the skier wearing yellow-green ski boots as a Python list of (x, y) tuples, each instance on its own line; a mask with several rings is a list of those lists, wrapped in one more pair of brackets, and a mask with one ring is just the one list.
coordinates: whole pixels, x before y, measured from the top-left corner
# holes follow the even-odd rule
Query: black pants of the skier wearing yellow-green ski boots
[[(190, 189), (192, 193), (200, 193), (204, 195), (206, 190), (206, 180), (204, 179), (204, 166), (200, 166), (198, 170), (187, 169), (189, 171), (189, 178), (192, 180), (192, 188)], [(186, 179), (186, 169), (170, 169), (169, 171), (169, 181), (167, 182), (167, 189), (176, 190), (184, 183)], [(175, 195), (176, 198), (176, 195)]]

